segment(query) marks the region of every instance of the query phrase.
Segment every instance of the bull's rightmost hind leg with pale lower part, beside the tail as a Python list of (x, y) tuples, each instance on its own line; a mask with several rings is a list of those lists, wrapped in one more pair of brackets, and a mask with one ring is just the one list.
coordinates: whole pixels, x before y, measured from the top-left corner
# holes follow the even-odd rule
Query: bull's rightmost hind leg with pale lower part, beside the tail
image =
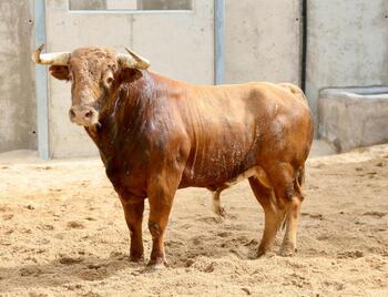
[(300, 181), (289, 163), (282, 163), (276, 167), (272, 167), (269, 178), (274, 184), (277, 205), (286, 213), (286, 233), (279, 255), (290, 256), (296, 250), (296, 233), (303, 201), (298, 184)]

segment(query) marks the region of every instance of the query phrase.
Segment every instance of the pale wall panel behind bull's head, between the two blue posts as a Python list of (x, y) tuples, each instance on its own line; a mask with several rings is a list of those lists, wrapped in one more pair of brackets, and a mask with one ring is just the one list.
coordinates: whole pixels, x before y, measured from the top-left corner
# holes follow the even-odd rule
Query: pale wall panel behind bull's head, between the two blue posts
[[(213, 1), (193, 11), (108, 13), (69, 11), (68, 0), (45, 1), (48, 51), (102, 45), (130, 47), (150, 59), (152, 71), (192, 83), (214, 82)], [(82, 127), (71, 124), (70, 84), (49, 78), (51, 157), (96, 155)]]

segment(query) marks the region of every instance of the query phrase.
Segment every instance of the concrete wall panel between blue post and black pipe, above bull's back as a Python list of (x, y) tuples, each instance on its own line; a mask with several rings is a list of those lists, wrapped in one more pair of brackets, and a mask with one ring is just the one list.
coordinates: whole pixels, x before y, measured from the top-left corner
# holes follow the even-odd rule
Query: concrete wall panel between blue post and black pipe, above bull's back
[(299, 83), (300, 2), (226, 0), (226, 83)]

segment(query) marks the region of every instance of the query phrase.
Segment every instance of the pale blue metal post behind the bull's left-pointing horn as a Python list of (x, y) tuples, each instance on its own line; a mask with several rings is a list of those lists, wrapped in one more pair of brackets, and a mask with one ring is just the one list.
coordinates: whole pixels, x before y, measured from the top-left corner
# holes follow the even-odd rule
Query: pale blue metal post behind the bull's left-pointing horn
[[(45, 43), (45, 6), (44, 0), (34, 0), (35, 47)], [(49, 155), (49, 100), (48, 74), (44, 65), (35, 66), (35, 98), (38, 122), (39, 157), (48, 160)]]

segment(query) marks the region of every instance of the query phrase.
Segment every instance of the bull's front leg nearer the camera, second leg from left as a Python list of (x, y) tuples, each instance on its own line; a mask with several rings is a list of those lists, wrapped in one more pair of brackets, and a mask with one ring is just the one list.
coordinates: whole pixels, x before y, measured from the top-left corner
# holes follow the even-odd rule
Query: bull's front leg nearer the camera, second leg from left
[(167, 266), (164, 253), (164, 235), (169, 223), (178, 178), (163, 175), (152, 178), (149, 186), (150, 218), (149, 228), (152, 236), (152, 252), (149, 267)]

